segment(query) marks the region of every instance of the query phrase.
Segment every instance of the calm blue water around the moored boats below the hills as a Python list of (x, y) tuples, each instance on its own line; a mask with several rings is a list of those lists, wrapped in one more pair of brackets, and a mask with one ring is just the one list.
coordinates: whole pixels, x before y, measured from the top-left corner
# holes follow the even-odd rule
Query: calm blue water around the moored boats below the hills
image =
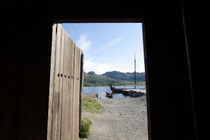
[[(114, 86), (116, 88), (134, 88), (134, 86)], [(145, 86), (136, 86), (136, 88), (145, 88)], [(105, 87), (83, 87), (82, 88), (83, 93), (98, 93), (98, 96), (100, 98), (106, 98), (106, 92), (111, 93), (110, 87), (105, 86)], [(130, 98), (129, 96), (124, 96), (123, 94), (113, 94), (113, 98), (119, 99), (119, 98)]]

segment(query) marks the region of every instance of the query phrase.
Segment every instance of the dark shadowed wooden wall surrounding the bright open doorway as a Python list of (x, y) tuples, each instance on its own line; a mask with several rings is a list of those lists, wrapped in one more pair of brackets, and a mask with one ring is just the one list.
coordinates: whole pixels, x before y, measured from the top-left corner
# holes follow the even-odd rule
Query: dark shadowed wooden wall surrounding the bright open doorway
[(204, 92), (209, 7), (198, 2), (184, 3), (183, 8), (189, 57), (177, 1), (62, 0), (44, 4), (22, 0), (1, 4), (1, 139), (46, 139), (53, 22), (99, 19), (144, 22), (150, 138), (194, 140), (198, 130), (201, 139), (205, 134), (202, 124), (207, 121), (203, 108), (209, 105)]

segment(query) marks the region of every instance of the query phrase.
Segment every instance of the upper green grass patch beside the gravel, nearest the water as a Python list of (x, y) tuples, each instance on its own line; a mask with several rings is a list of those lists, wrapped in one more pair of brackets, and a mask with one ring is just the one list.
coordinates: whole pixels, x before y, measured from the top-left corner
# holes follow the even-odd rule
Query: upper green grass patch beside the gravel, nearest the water
[(82, 97), (82, 109), (90, 113), (102, 112), (102, 105), (90, 97)]

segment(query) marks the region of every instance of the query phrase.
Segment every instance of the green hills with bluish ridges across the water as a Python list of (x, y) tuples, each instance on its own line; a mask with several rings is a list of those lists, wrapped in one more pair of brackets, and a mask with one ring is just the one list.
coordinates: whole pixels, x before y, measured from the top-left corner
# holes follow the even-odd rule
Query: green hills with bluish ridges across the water
[[(101, 86), (101, 85), (123, 85), (132, 84), (134, 81), (133, 73), (123, 73), (119, 71), (106, 72), (98, 75), (93, 71), (84, 72), (84, 86)], [(145, 73), (136, 73), (137, 82), (145, 82)]]

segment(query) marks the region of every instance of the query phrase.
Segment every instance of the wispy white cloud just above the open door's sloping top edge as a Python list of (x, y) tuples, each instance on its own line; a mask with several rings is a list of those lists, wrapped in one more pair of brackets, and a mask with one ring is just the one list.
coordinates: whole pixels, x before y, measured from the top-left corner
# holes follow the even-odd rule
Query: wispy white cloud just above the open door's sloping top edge
[(83, 50), (84, 54), (87, 54), (91, 41), (87, 39), (87, 34), (81, 34), (76, 44)]

